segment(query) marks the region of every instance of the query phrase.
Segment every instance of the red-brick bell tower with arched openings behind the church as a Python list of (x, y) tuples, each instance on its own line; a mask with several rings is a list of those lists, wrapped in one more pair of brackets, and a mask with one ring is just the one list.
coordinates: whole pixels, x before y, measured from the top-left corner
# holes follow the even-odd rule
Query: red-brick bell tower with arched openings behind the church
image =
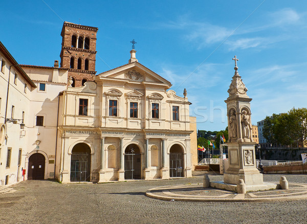
[(88, 27), (64, 22), (61, 31), (61, 68), (68, 68), (68, 77), (73, 79), (73, 87), (93, 80), (96, 74), (96, 34), (97, 27)]

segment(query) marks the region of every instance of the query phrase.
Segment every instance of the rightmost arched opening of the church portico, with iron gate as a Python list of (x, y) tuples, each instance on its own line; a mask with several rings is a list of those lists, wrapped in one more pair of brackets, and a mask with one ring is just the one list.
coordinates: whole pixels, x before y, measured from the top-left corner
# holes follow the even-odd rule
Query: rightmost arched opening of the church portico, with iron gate
[(179, 144), (174, 144), (169, 151), (169, 176), (183, 177), (184, 163), (183, 150)]

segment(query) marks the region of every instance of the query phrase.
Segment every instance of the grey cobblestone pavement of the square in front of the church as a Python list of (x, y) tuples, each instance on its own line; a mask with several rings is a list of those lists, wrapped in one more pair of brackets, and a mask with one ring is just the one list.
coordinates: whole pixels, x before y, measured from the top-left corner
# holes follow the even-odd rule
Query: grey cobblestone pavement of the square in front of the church
[[(281, 175), (264, 175), (278, 182)], [(307, 183), (307, 175), (285, 175)], [(221, 181), (222, 175), (209, 175)], [(267, 203), (163, 201), (145, 196), (159, 186), (202, 184), (202, 176), (107, 184), (26, 181), (0, 194), (1, 223), (306, 223), (307, 200)]]

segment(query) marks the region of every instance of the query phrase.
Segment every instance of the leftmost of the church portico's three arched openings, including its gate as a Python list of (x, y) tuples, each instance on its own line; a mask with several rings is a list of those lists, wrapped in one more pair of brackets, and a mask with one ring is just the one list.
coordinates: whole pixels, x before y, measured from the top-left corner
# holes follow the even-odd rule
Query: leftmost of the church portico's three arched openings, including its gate
[(78, 143), (71, 155), (71, 182), (89, 182), (90, 177), (91, 148), (85, 143)]

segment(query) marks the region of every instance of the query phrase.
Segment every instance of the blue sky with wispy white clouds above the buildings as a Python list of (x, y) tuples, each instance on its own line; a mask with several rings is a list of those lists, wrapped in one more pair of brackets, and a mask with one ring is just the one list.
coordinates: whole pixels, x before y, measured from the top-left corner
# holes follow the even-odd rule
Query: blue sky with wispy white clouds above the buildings
[(227, 126), (234, 55), (252, 123), (307, 107), (306, 1), (10, 1), (0, 9), (1, 41), (20, 64), (59, 60), (63, 21), (98, 27), (97, 74), (137, 59), (188, 92), (197, 128)]

